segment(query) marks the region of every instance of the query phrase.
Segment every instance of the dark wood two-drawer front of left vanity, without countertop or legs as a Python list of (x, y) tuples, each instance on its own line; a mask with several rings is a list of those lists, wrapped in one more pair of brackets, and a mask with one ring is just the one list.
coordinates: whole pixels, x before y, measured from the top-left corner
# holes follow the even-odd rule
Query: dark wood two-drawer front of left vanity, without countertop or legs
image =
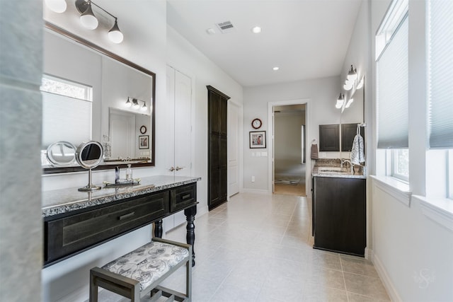
[(46, 217), (45, 266), (196, 204), (197, 185), (191, 183)]

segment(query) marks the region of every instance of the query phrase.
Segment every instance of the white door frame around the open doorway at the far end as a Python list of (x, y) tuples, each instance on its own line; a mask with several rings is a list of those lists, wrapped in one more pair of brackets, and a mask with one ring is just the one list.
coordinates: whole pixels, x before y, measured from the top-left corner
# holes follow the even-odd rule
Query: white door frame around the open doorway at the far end
[[(268, 102), (268, 192), (272, 194), (274, 192), (274, 107), (275, 106), (284, 106), (284, 105), (305, 105), (305, 141), (308, 141), (308, 137), (311, 137), (311, 99), (310, 98), (300, 98), (296, 100), (279, 100), (274, 102)], [(311, 192), (311, 163), (308, 165), (308, 158), (310, 149), (306, 146), (305, 148), (305, 158), (306, 158), (306, 169), (305, 169), (305, 192)], [(309, 194), (306, 194), (307, 196)]]

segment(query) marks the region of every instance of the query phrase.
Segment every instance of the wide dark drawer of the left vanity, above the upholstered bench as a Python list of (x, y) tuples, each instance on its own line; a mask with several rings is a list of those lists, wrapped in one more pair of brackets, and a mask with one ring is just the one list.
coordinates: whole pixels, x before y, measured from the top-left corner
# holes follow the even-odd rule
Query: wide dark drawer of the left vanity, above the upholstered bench
[(45, 221), (45, 262), (91, 248), (168, 214), (169, 192), (152, 193), (80, 214)]

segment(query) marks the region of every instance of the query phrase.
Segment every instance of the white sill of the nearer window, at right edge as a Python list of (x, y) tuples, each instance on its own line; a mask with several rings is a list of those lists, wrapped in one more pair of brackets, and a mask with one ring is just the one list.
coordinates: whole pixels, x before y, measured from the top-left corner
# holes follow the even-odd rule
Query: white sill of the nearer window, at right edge
[(420, 202), (422, 213), (429, 219), (440, 223), (450, 231), (453, 231), (453, 200), (447, 198), (427, 198), (413, 195)]

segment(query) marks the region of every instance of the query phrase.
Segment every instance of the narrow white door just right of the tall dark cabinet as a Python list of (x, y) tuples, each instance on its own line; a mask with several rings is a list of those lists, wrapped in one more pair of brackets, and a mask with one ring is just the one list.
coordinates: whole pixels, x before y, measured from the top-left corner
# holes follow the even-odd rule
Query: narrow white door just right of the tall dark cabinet
[(241, 127), (241, 108), (228, 104), (228, 197), (239, 193), (239, 142)]

